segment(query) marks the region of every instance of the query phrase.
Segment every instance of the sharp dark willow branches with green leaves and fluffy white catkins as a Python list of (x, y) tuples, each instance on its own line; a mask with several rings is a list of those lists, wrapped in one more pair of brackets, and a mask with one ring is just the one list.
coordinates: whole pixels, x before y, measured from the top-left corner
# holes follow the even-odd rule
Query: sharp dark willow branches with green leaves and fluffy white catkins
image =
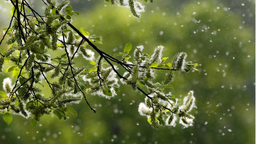
[[(78, 30), (70, 23), (71, 16), (78, 13), (73, 12), (72, 6), (67, 6), (69, 1), (65, 0), (57, 5), (57, 1), (48, 0), (44, 16), (38, 13), (38, 16), (22, 14), (24, 9), (28, 12), (35, 10), (24, 1), (16, 2), (12, 3), (14, 9), (11, 25), (4, 29), (5, 35), (9, 35), (5, 42), (9, 47), (2, 51), (0, 58), (1, 71), (3, 63), (7, 62), (11, 66), (6, 72), (12, 72), (13, 78), (17, 79), (14, 85), (9, 78), (4, 79), (5, 92), (0, 92), (3, 97), (0, 100), (0, 108), (5, 112), (3, 118), (8, 124), (12, 121), (9, 113), (21, 114), (24, 117), (31, 115), (32, 126), (36, 126), (41, 117), (48, 114), (54, 114), (60, 120), (66, 120), (69, 112), (76, 117), (76, 111), (67, 104), (79, 102), (82, 97), (89, 108), (96, 112), (88, 103), (86, 94), (113, 97), (121, 91), (117, 77), (122, 83), (130, 85), (133, 90), (140, 90), (147, 97), (145, 104), (148, 110), (142, 110), (142, 115), (150, 117), (153, 128), (158, 129), (160, 125), (166, 125), (163, 119), (167, 110), (182, 118), (184, 123), (186, 119), (193, 118), (187, 114), (194, 107), (192, 92), (186, 97), (183, 109), (175, 113), (171, 110), (177, 103), (174, 95), (164, 94), (165, 88), (174, 88), (169, 84), (173, 71), (195, 69), (194, 67), (198, 66), (185, 62), (185, 52), (174, 56), (171, 64), (168, 57), (162, 58), (162, 45), (156, 47), (152, 56), (138, 47), (134, 47), (134, 54), (131, 55), (133, 47), (129, 42), (124, 46), (123, 52), (113, 57), (94, 45), (103, 44), (99, 37), (91, 35), (84, 28)], [(111, 3), (114, 4), (115, 1)], [(122, 1), (119, 3), (124, 4)], [(22, 7), (23, 10), (20, 9)], [(62, 13), (63, 8), (65, 14)], [(129, 8), (135, 17), (139, 17), (137, 12), (142, 6), (137, 1), (129, 0)], [(13, 19), (14, 16), (17, 16), (17, 19)], [(99, 55), (95, 61), (94, 51), (91, 49)], [(57, 56), (50, 56), (50, 51), (56, 52)], [(74, 58), (79, 54), (89, 61), (92, 65), (90, 68), (75, 67)], [(116, 56), (121, 57), (118, 59)], [(129, 61), (131, 57), (134, 57), (134, 62)], [(118, 72), (118, 66), (113, 63), (124, 68), (127, 73), (122, 76)], [(156, 70), (168, 71), (164, 81), (156, 81)], [(43, 81), (50, 88), (49, 97), (45, 97), (42, 92), (45, 86)], [(144, 90), (138, 86), (145, 86)], [(185, 124), (189, 125), (188, 122)]]

